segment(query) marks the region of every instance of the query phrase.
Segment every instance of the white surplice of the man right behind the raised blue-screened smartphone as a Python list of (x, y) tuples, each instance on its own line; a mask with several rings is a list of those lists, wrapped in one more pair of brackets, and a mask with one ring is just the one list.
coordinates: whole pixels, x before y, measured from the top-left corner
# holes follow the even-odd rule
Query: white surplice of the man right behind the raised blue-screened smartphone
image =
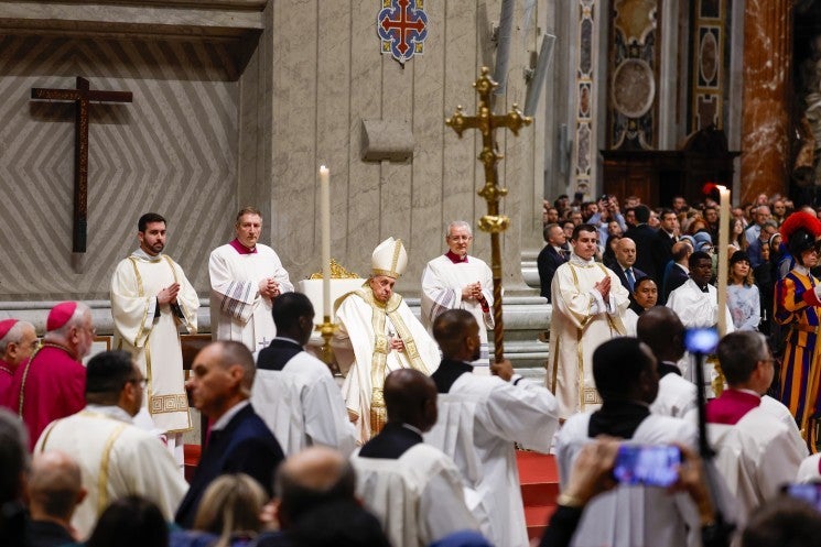
[[(557, 439), (557, 462), (562, 490), (579, 450), (591, 442), (590, 413), (577, 414), (564, 423)], [(695, 447), (698, 431), (689, 420), (650, 414), (630, 442), (668, 445), (682, 442)], [(688, 526), (695, 530), (688, 539)], [(695, 505), (687, 493), (670, 494), (657, 486), (627, 486), (593, 497), (584, 508), (571, 545), (577, 547), (658, 547), (700, 545), (701, 525)], [(696, 538), (698, 537), (698, 541)], [(690, 541), (690, 543), (689, 543)]]

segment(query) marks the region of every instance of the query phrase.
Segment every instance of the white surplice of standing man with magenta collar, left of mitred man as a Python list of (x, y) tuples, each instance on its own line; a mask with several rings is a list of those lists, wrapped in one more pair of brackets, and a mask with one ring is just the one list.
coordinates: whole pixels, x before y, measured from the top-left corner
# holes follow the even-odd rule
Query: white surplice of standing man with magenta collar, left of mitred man
[(214, 249), (208, 260), (210, 328), (215, 340), (236, 340), (252, 352), (277, 336), (271, 299), (259, 294), (259, 282), (273, 277), (280, 293), (293, 292), (277, 253), (257, 243), (257, 252), (240, 254), (230, 243)]

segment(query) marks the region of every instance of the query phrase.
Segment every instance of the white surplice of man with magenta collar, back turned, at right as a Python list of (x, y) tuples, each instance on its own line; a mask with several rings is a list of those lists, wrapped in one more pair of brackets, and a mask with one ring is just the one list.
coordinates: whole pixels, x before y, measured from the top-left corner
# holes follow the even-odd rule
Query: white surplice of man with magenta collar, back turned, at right
[(707, 436), (717, 452), (715, 467), (747, 516), (796, 480), (806, 456), (789, 427), (760, 406), (733, 426), (707, 424)]

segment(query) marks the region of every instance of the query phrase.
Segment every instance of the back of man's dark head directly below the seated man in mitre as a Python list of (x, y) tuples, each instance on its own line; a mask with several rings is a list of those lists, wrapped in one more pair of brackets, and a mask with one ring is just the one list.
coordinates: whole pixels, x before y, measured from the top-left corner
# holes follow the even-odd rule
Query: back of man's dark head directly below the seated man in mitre
[(385, 379), (388, 422), (429, 431), (436, 423), (436, 384), (413, 369), (399, 369)]

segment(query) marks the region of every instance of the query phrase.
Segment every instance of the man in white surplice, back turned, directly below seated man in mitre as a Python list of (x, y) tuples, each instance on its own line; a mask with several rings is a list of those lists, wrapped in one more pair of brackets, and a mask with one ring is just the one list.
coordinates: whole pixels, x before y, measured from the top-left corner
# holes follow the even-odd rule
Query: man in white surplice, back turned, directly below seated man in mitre
[(460, 530), (478, 530), (453, 460), (422, 441), (436, 422), (436, 386), (419, 371), (385, 379), (388, 423), (352, 458), (357, 495), (393, 547), (425, 547)]

